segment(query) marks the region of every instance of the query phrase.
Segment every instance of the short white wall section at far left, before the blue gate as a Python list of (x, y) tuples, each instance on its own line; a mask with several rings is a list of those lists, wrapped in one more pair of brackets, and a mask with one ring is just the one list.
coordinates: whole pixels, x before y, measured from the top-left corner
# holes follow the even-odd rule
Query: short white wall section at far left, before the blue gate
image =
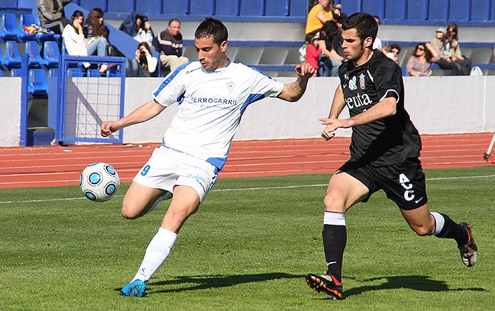
[(0, 146), (19, 146), (21, 134), (21, 78), (0, 77)]

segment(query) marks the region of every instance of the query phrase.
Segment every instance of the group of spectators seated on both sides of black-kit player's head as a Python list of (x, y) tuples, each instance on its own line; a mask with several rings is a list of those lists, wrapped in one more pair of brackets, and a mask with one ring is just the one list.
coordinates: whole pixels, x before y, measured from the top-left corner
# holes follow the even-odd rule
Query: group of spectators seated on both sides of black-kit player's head
[[(300, 49), (301, 62), (308, 62), (320, 77), (336, 77), (338, 68), (345, 61), (341, 47), (341, 25), (347, 14), (342, 12), (340, 3), (333, 0), (309, 1), (309, 13), (306, 20), (306, 41)], [(379, 16), (374, 16), (378, 26)], [(383, 45), (380, 38), (375, 39), (374, 49), (381, 51), (398, 66), (401, 47), (397, 44)], [(462, 54), (459, 46), (459, 27), (450, 23), (439, 27), (431, 42), (420, 42), (407, 60), (405, 70), (411, 76), (432, 75), (431, 64), (450, 70), (452, 75), (470, 75), (471, 60)]]

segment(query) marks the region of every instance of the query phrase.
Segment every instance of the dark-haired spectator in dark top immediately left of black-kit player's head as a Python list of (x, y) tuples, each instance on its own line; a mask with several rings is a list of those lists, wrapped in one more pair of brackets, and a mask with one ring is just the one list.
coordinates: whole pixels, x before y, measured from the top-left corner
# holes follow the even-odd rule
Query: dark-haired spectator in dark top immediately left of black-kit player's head
[(322, 57), (319, 59), (319, 76), (337, 77), (339, 66), (345, 58), (343, 58), (343, 50), (339, 40), (337, 23), (335, 21), (324, 23), (322, 31), (320, 32), (318, 47), (322, 49), (323, 53)]

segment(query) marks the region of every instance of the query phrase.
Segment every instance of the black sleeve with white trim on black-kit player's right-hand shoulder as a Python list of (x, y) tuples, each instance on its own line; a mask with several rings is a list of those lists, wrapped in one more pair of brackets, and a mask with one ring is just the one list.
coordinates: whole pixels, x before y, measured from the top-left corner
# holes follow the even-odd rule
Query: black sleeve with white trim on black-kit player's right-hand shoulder
[[(387, 58), (385, 56), (385, 58)], [(378, 95), (379, 101), (385, 99), (389, 92), (394, 92), (397, 101), (400, 94), (402, 94), (402, 71), (399, 66), (393, 61), (387, 58), (387, 61), (381, 63), (378, 66), (376, 73), (374, 74), (374, 84), (376, 86), (376, 95)]]

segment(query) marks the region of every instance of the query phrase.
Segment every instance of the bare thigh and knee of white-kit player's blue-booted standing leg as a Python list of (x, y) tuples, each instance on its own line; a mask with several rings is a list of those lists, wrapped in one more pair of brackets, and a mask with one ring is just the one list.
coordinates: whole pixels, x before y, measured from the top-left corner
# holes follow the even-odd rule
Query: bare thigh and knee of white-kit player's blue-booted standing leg
[(162, 228), (178, 233), (184, 222), (200, 206), (200, 195), (190, 186), (173, 188), (173, 197), (162, 221)]

